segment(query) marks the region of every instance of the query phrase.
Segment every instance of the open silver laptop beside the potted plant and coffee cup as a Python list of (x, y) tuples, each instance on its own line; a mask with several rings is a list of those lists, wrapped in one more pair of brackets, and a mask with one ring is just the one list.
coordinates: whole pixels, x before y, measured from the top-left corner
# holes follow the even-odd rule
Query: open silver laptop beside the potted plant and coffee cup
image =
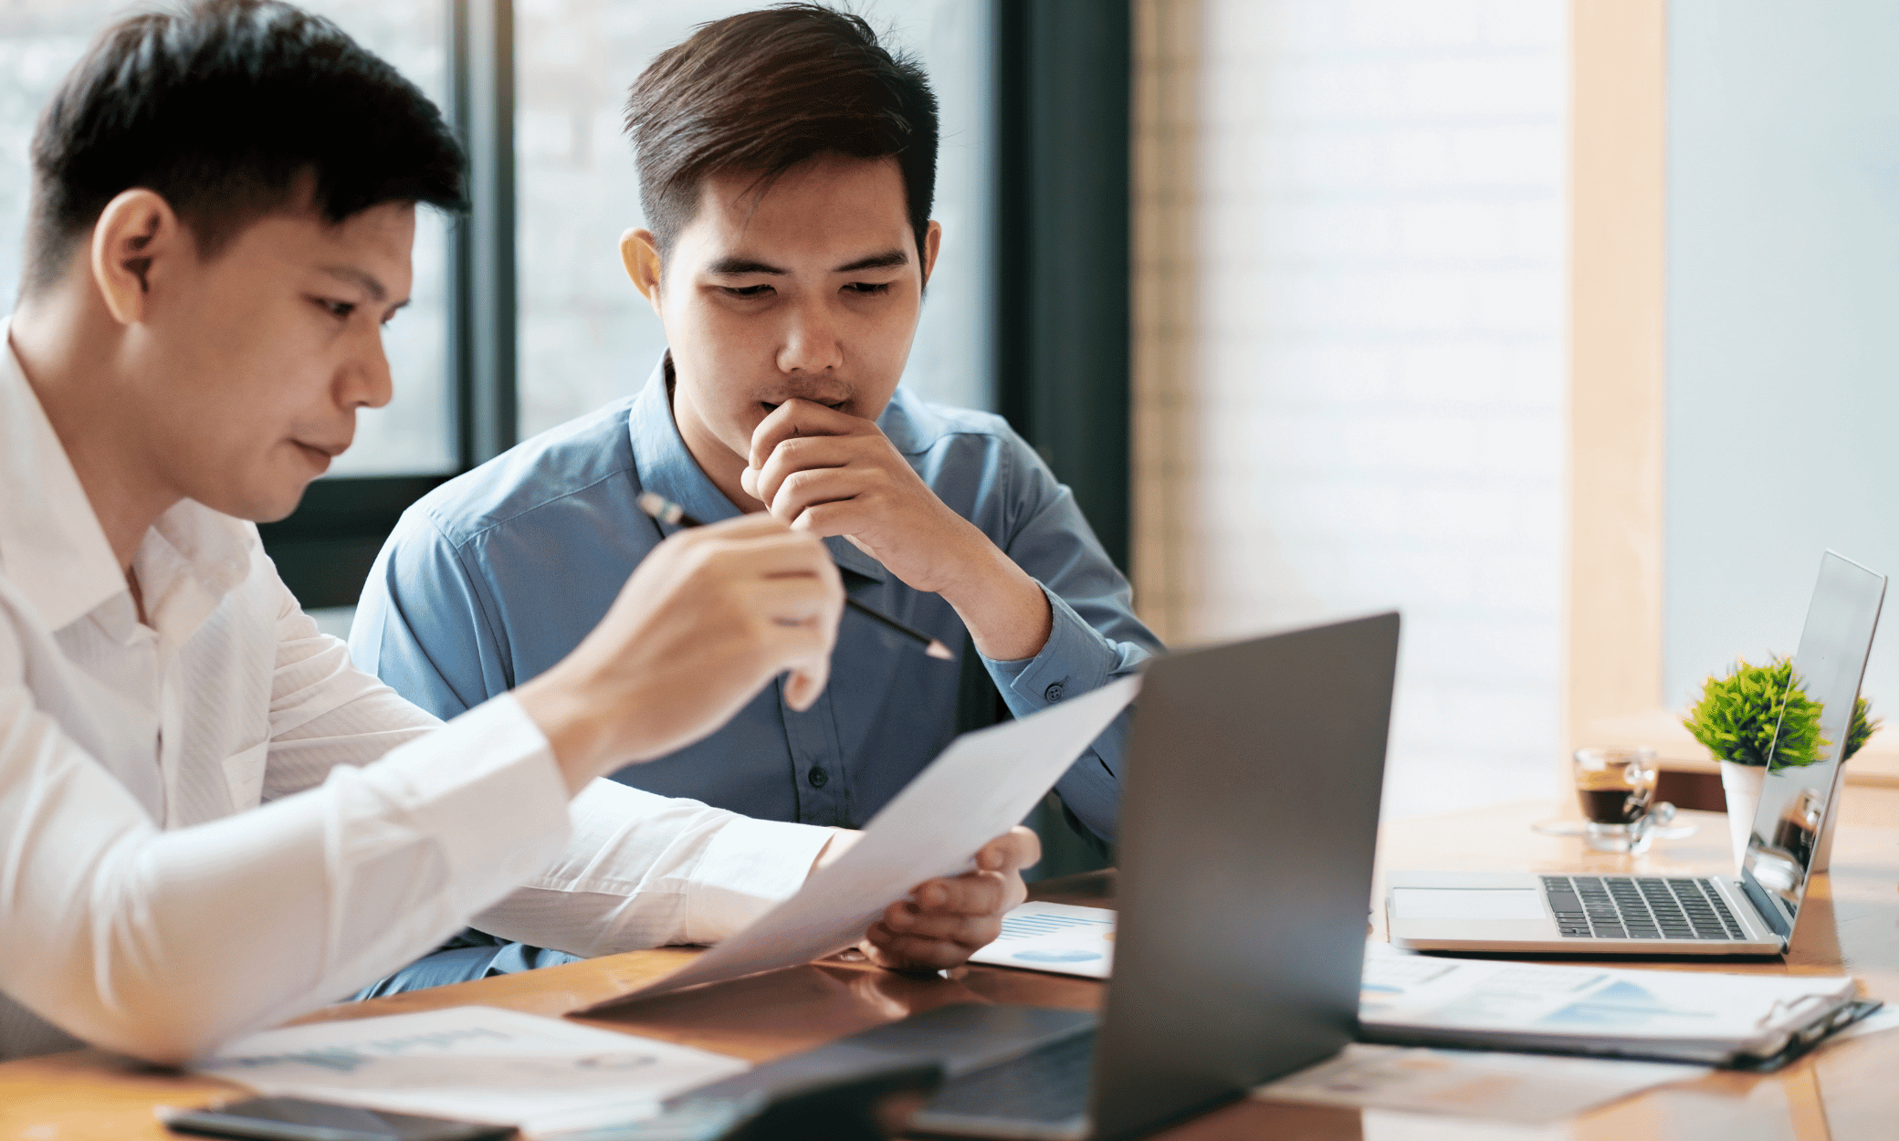
[(1768, 758), (1739, 875), (1392, 871), (1392, 944), (1413, 951), (1785, 955), (1840, 784), (1840, 748), (1886, 598), (1886, 575), (1829, 551), (1795, 674), (1821, 704), (1821, 759)]

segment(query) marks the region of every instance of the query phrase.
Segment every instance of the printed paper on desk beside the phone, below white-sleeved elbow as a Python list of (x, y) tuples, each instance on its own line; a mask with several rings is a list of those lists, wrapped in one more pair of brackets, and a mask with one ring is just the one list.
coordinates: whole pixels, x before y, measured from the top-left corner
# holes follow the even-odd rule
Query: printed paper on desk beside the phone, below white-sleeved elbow
[(266, 1095), (534, 1133), (653, 1116), (665, 1097), (748, 1067), (558, 1018), (454, 1006), (264, 1031), (194, 1069)]

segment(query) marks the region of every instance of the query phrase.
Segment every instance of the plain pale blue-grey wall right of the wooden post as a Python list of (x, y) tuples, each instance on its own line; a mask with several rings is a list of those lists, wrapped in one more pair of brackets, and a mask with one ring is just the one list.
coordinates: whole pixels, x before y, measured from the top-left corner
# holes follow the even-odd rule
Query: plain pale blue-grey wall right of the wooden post
[[(1669, 6), (1665, 701), (1899, 573), (1899, 6)], [(1888, 608), (1891, 615), (1891, 608)], [(1867, 697), (1899, 697), (1899, 640)]]

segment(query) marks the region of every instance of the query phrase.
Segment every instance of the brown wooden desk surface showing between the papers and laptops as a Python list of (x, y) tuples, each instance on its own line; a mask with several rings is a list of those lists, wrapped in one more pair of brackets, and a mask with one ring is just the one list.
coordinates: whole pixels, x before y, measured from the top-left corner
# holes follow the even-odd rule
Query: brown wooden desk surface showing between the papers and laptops
[[(1717, 814), (1688, 814), (1702, 824), (1698, 835), (1660, 843), (1656, 851), (1633, 860), (1584, 852), (1574, 839), (1532, 833), (1529, 824), (1548, 814), (1548, 805), (1523, 803), (1390, 824), (1381, 833), (1379, 864), (1654, 873), (1720, 873), (1730, 864), (1726, 822)], [(1037, 898), (1113, 904), (1113, 873), (1037, 887)], [(689, 955), (693, 951), (686, 949), (634, 951), (334, 1006), (311, 1018), (365, 1018), (465, 1002), (553, 1016), (665, 974)], [(1815, 879), (1789, 961), (1724, 968), (1766, 974), (1844, 970), (1859, 976), (1872, 995), (1899, 1002), (1899, 790), (1850, 790), (1833, 873)], [(993, 966), (970, 966), (955, 974), (948, 982), (913, 980), (862, 963), (824, 963), (672, 995), (621, 1018), (596, 1019), (594, 1025), (763, 1061), (944, 1002), (1094, 1008), (1101, 999), (1101, 985), (1088, 980)], [(201, 1105), (232, 1092), (222, 1082), (148, 1071), (91, 1050), (13, 1061), (0, 1065), (0, 1139), (169, 1137), (152, 1118), (154, 1105)], [(1493, 1141), (1886, 1141), (1899, 1137), (1899, 1031), (1823, 1048), (1776, 1075), (1717, 1073), (1548, 1130), (1460, 1126), (1447, 1118), (1242, 1101), (1164, 1133), (1170, 1141), (1445, 1141), (1474, 1135)]]

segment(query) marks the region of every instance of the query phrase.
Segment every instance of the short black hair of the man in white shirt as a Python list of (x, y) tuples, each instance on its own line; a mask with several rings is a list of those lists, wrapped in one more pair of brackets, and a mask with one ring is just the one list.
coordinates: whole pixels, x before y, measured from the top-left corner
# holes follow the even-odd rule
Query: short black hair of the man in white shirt
[(125, 190), (171, 203), (209, 258), (306, 177), (336, 224), (385, 201), (465, 209), (465, 165), (435, 104), (319, 15), (277, 0), (131, 15), (40, 116), (25, 292), (59, 281)]

